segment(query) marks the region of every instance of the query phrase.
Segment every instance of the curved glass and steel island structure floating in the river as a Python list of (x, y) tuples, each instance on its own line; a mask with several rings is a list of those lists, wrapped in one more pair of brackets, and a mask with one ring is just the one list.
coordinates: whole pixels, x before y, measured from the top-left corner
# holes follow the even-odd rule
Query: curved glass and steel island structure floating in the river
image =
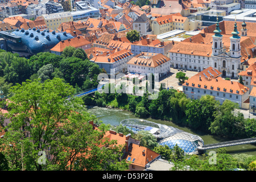
[(197, 135), (144, 119), (124, 119), (121, 125), (126, 126), (135, 134), (142, 130), (148, 131), (158, 139), (160, 145), (173, 148), (177, 144), (188, 155), (199, 154), (197, 147), (204, 145), (203, 139)]

